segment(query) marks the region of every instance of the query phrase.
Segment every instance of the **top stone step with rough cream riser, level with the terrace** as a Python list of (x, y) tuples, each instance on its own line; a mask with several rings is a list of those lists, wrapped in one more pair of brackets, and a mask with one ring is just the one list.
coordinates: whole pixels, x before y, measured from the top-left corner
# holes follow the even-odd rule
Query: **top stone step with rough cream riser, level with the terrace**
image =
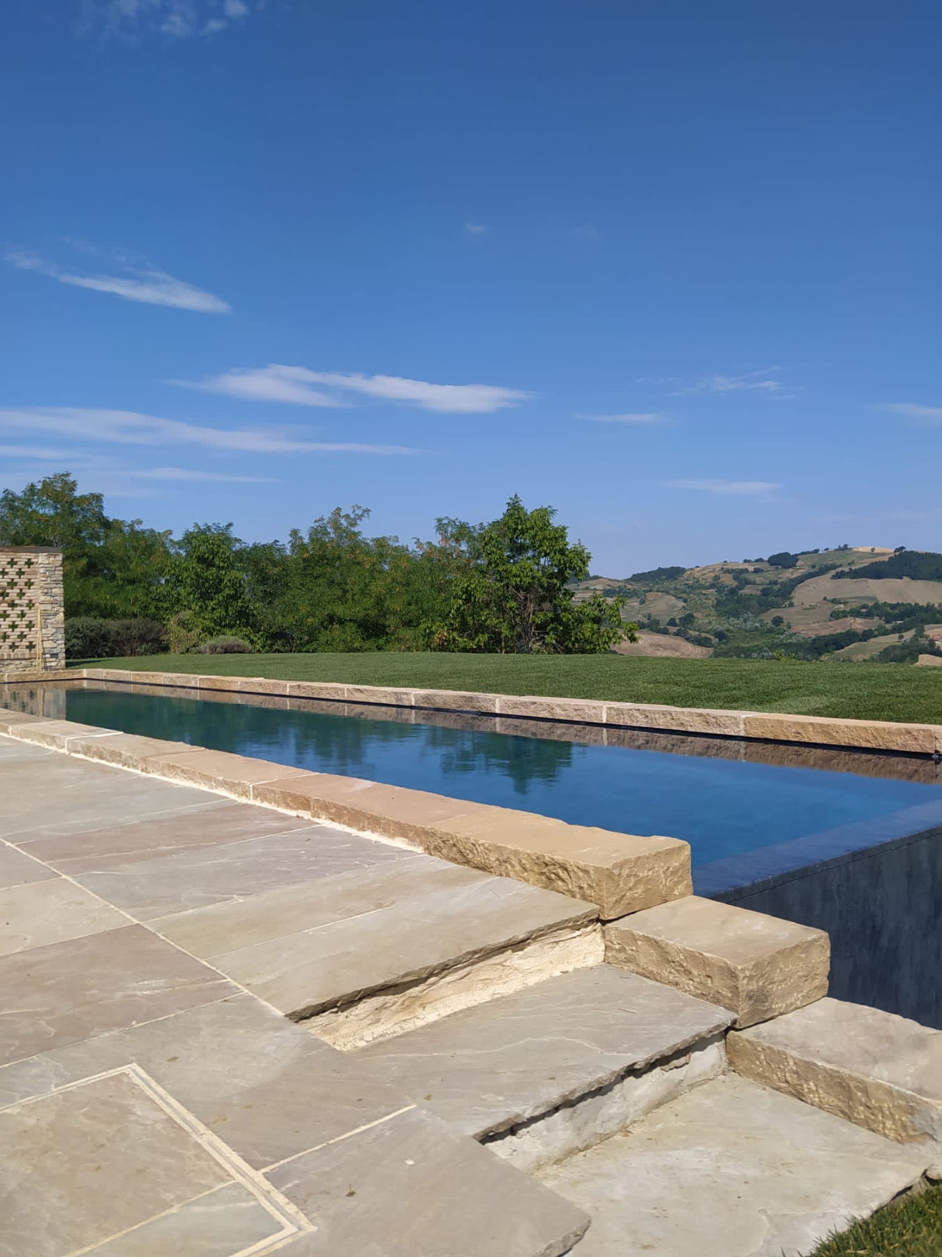
[(148, 925), (344, 1050), (600, 963), (593, 904), (402, 855)]

